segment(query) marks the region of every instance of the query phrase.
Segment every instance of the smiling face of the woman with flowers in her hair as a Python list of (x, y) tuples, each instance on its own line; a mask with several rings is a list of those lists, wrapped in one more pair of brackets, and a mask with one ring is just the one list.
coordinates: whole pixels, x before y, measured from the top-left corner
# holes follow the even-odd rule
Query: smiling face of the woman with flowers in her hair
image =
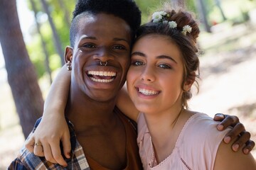
[(181, 107), (183, 62), (178, 47), (165, 35), (144, 35), (135, 42), (127, 89), (144, 113)]

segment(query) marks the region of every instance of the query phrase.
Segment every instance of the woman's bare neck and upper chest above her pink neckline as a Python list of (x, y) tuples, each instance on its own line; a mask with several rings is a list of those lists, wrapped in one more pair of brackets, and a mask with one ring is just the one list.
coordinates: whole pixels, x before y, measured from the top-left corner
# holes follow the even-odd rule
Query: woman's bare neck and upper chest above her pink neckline
[(162, 162), (173, 151), (176, 140), (188, 120), (187, 111), (177, 107), (157, 114), (146, 114), (146, 125), (149, 128), (157, 162)]

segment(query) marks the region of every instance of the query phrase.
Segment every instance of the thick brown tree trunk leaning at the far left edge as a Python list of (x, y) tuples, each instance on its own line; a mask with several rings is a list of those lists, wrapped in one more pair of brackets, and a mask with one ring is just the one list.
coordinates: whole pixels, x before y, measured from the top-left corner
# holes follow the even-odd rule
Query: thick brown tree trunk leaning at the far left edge
[(43, 96), (23, 40), (15, 0), (0, 1), (0, 42), (16, 111), (27, 137), (43, 113)]

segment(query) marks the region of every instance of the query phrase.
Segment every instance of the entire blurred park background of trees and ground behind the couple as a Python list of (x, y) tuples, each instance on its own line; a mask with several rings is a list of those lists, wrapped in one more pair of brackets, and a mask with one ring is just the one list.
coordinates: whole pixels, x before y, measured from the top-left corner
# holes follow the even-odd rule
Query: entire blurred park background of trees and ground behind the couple
[[(164, 3), (135, 1), (142, 10), (142, 23)], [(171, 1), (184, 2), (201, 22), (200, 91), (193, 95), (191, 109), (210, 116), (237, 115), (256, 141), (256, 0)], [(16, 157), (24, 136), (43, 113), (43, 100), (69, 45), (74, 6), (75, 0), (0, 2), (0, 170)], [(21, 36), (14, 22), (16, 7)], [(12, 13), (4, 16), (4, 9)], [(9, 22), (4, 23), (3, 17)], [(6, 35), (6, 29), (15, 36)], [(256, 158), (256, 149), (252, 154)]]

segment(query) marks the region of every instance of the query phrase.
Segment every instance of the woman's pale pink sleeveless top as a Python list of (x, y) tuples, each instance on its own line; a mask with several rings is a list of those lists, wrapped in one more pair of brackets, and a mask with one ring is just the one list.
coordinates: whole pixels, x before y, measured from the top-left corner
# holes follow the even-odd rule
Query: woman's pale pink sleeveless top
[(204, 113), (192, 115), (181, 130), (173, 152), (163, 162), (156, 163), (151, 136), (144, 113), (138, 117), (139, 155), (144, 169), (213, 169), (220, 142), (228, 130), (218, 131), (213, 118)]

